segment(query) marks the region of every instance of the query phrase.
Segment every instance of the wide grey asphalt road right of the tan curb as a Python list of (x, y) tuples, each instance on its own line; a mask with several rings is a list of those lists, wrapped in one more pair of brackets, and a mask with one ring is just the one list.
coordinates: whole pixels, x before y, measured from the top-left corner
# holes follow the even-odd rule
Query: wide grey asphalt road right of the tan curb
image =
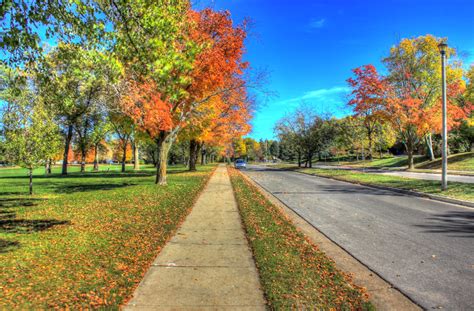
[(473, 209), (291, 171), (244, 172), (423, 308), (473, 310)]

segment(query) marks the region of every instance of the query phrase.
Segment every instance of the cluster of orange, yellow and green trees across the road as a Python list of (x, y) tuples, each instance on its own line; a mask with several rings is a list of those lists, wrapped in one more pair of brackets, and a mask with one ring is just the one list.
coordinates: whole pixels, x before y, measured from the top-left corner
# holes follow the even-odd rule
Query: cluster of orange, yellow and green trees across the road
[[(432, 35), (403, 39), (382, 59), (385, 75), (369, 64), (352, 70), (347, 105), (352, 114), (333, 118), (307, 104), (275, 126), (285, 160), (311, 167), (315, 156), (341, 155), (372, 159), (392, 149), (416, 152), (434, 160), (441, 153), (441, 63)], [(474, 65), (464, 69), (457, 51), (449, 48), (447, 74), (448, 142), (451, 153), (474, 149)]]

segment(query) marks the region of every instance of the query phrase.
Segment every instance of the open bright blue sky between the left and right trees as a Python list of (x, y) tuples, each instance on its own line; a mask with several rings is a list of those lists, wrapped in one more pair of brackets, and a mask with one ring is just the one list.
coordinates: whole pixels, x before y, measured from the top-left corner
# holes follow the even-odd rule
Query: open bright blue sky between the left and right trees
[[(246, 60), (265, 71), (249, 134), (274, 137), (275, 122), (302, 101), (318, 112), (350, 113), (346, 79), (351, 69), (374, 64), (400, 39), (447, 37), (466, 64), (474, 62), (474, 0), (215, 0), (196, 7), (229, 10), (237, 23), (251, 20)], [(467, 66), (467, 65), (466, 65)]]

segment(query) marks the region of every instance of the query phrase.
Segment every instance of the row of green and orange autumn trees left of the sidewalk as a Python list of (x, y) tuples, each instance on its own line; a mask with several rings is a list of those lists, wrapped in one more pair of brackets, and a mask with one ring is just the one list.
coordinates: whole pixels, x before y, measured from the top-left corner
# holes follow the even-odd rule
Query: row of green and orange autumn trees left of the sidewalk
[(243, 60), (247, 23), (227, 11), (186, 0), (9, 1), (0, 15), (0, 148), (30, 183), (58, 153), (66, 175), (71, 149), (81, 171), (91, 153), (98, 170), (114, 140), (122, 171), (130, 150), (137, 168), (142, 149), (165, 185), (171, 150), (176, 161), (187, 146), (181, 160), (195, 170), (198, 155), (205, 163), (250, 131), (260, 77)]

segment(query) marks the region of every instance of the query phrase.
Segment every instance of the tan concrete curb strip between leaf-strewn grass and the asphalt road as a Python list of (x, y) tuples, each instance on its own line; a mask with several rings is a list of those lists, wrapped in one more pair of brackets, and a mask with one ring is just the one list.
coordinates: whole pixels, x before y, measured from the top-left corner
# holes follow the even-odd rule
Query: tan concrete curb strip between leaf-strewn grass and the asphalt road
[(422, 310), (410, 297), (353, 257), (347, 250), (319, 231), (318, 228), (284, 204), (265, 187), (246, 174), (240, 173), (243, 178), (254, 185), (266, 199), (287, 215), (298, 230), (304, 233), (325, 252), (329, 258), (334, 260), (339, 269), (350, 274), (354, 283), (366, 288), (370, 295), (370, 301), (375, 305), (377, 310)]

